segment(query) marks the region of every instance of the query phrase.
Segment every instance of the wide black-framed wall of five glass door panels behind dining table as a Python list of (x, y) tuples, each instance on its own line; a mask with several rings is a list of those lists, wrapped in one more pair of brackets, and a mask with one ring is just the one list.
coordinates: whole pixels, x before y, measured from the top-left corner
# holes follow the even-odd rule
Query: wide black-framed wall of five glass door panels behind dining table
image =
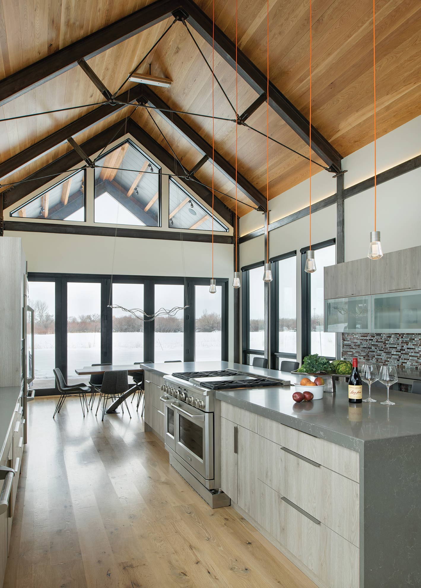
[[(89, 381), (75, 369), (92, 363), (228, 359), (227, 279), (216, 279), (215, 295), (209, 278), (29, 273), (28, 280), (35, 390), (54, 393), (55, 367), (75, 383)], [(155, 320), (128, 312), (175, 307)]]

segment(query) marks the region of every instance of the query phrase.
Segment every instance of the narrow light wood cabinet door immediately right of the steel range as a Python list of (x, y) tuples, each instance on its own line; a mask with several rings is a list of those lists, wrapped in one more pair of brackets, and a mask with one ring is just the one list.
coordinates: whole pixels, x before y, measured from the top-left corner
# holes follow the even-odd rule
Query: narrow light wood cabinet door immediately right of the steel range
[[(223, 404), (222, 404), (223, 406)], [(220, 419), (220, 487), (233, 502), (237, 502), (237, 442), (238, 426)]]

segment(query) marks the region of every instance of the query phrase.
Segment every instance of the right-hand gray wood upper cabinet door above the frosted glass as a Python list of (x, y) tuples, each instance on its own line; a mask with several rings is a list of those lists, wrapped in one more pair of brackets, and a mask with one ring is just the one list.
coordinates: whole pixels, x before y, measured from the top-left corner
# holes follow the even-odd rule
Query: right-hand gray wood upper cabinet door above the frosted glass
[(421, 290), (421, 247), (386, 253), (370, 266), (372, 294)]

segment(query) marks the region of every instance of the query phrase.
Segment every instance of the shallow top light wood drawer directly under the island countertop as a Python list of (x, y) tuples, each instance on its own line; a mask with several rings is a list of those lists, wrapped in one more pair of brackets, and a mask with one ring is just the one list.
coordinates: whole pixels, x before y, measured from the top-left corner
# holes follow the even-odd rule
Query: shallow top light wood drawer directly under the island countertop
[(359, 482), (359, 454), (356, 451), (302, 433), (263, 416), (258, 417), (258, 433), (313, 462)]

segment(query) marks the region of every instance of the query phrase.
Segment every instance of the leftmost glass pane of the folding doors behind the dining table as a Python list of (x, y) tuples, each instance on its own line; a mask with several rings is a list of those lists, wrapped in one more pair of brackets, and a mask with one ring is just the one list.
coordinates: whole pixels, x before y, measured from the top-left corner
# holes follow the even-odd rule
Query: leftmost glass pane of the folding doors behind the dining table
[(28, 304), (34, 309), (34, 388), (54, 387), (55, 282), (30, 282)]

